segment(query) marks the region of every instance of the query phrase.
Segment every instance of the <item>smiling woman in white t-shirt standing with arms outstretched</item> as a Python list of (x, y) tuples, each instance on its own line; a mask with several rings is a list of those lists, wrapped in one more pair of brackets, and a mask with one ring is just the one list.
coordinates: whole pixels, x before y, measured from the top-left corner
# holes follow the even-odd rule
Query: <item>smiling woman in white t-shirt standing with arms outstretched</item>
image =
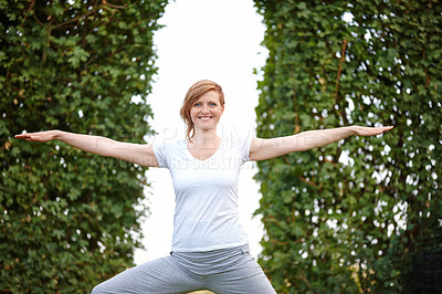
[(239, 221), (238, 179), (248, 160), (265, 160), (347, 138), (380, 135), (392, 127), (349, 126), (260, 139), (221, 138), (217, 125), (224, 111), (221, 86), (193, 84), (180, 114), (187, 139), (164, 144), (126, 144), (60, 130), (17, 135), (32, 141), (59, 139), (82, 150), (170, 170), (176, 193), (172, 251), (169, 256), (127, 270), (93, 293), (275, 293), (249, 253)]

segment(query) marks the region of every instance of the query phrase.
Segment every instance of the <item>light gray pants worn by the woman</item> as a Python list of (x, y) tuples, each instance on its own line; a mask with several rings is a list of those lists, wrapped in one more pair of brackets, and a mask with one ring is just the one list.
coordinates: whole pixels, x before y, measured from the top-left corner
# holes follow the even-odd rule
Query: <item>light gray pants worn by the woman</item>
[(127, 270), (97, 285), (101, 293), (276, 293), (250, 255), (249, 246), (208, 252), (172, 252), (169, 256)]

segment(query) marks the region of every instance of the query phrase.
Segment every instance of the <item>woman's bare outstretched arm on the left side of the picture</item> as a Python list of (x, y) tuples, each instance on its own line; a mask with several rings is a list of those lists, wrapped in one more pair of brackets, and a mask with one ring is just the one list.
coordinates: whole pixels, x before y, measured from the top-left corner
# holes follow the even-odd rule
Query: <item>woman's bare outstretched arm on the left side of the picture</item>
[(131, 144), (116, 141), (106, 137), (82, 135), (62, 130), (45, 130), (15, 135), (18, 139), (29, 141), (61, 140), (87, 153), (114, 157), (133, 164), (158, 167), (151, 144)]

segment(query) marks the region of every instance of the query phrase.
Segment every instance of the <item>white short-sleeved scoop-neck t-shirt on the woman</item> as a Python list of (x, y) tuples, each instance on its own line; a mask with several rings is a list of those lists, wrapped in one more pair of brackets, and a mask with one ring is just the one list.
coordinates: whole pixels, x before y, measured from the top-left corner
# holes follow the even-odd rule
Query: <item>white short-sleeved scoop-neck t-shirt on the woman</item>
[(238, 180), (241, 166), (250, 160), (250, 136), (222, 139), (207, 160), (196, 159), (186, 140), (154, 144), (159, 167), (168, 168), (173, 181), (172, 251), (209, 251), (248, 243), (238, 210)]

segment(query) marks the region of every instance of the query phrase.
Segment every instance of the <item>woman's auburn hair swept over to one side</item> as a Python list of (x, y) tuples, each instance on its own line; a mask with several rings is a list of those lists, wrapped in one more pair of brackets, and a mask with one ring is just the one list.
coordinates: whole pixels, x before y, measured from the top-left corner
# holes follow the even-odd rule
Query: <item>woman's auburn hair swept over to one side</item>
[(199, 97), (201, 97), (209, 91), (218, 92), (220, 104), (221, 106), (224, 106), (224, 93), (222, 92), (221, 86), (209, 80), (201, 80), (191, 85), (186, 94), (185, 101), (182, 102), (180, 115), (187, 126), (186, 139), (190, 141), (194, 136), (194, 124), (192, 122), (192, 118), (190, 117), (190, 109), (193, 107)]

